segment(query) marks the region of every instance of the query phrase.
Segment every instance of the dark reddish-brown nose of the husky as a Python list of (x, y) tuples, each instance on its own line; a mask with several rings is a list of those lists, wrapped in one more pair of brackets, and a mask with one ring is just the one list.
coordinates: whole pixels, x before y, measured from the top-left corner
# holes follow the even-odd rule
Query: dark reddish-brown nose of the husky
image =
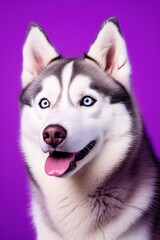
[(43, 139), (52, 147), (57, 147), (67, 136), (67, 131), (59, 125), (49, 125), (43, 130)]

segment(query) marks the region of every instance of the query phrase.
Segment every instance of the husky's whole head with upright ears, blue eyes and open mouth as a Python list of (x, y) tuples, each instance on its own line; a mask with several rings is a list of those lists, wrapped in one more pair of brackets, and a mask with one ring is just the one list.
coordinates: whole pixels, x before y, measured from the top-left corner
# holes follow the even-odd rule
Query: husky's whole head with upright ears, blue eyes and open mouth
[(48, 175), (75, 174), (103, 153), (104, 145), (117, 142), (117, 148), (125, 149), (131, 140), (133, 103), (130, 65), (115, 19), (105, 22), (79, 59), (60, 57), (33, 24), (23, 59), (22, 138), (32, 136), (37, 151), (45, 153)]

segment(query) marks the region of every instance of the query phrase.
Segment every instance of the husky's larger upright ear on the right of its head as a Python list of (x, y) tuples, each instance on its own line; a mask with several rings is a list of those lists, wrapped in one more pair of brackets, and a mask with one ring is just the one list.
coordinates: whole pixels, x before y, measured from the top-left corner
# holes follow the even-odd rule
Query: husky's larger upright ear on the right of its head
[(131, 67), (116, 18), (106, 20), (87, 55), (95, 59), (111, 77), (129, 89)]

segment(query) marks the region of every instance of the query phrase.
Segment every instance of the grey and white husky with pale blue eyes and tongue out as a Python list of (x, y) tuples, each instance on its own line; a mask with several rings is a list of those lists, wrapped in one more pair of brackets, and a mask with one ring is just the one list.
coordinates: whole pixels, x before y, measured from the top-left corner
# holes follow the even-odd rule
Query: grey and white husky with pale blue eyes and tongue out
[(119, 24), (63, 58), (31, 24), (23, 48), (21, 147), (38, 240), (160, 239), (160, 167), (130, 87)]

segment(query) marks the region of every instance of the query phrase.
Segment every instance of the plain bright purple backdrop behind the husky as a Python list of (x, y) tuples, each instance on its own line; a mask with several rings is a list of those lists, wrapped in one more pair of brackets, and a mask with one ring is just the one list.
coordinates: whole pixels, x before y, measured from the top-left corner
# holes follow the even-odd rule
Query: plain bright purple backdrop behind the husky
[[(160, 6), (157, 1), (1, 1), (1, 174), (0, 239), (34, 239), (28, 188), (19, 150), (22, 46), (30, 22), (39, 23), (59, 53), (79, 56), (103, 21), (116, 16), (127, 41), (133, 88), (160, 156)], [(47, 239), (46, 239), (47, 240)]]

